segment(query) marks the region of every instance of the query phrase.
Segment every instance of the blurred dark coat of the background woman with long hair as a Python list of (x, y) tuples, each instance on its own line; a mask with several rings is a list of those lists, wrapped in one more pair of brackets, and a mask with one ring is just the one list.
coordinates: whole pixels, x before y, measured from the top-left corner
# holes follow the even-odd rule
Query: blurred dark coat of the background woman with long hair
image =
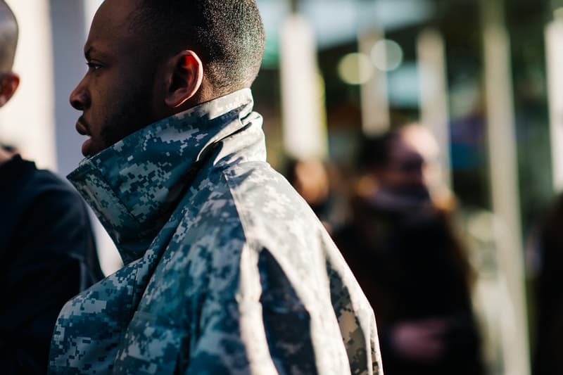
[[(469, 265), (448, 217), (426, 203), (358, 198), (354, 220), (334, 239), (372, 304), (386, 375), (482, 374), (469, 295)], [(398, 355), (393, 328), (447, 319), (446, 352), (436, 362)]]

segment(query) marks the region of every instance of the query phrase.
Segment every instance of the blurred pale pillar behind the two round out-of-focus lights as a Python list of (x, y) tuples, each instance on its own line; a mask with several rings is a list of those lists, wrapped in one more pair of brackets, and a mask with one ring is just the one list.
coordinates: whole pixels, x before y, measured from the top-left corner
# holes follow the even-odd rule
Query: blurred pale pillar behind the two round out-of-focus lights
[[(358, 48), (365, 56), (372, 56), (377, 42), (384, 39), (379, 30), (360, 32)], [(360, 86), (362, 105), (362, 131), (367, 136), (386, 132), (391, 126), (389, 101), (387, 96), (387, 72), (372, 65), (373, 75)]]

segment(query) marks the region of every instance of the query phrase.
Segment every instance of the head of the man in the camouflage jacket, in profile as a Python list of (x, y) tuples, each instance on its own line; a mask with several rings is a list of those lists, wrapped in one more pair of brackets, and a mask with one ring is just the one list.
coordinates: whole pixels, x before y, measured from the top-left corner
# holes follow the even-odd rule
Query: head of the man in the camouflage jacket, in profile
[(199, 103), (250, 87), (264, 30), (255, 0), (106, 0), (70, 95), (84, 155)]

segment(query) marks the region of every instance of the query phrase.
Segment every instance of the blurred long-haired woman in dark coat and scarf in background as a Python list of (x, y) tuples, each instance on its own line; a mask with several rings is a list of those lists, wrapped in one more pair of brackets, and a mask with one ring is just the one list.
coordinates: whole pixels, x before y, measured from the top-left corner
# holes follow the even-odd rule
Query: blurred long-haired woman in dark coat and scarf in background
[(386, 375), (483, 374), (472, 271), (431, 198), (417, 133), (365, 139), (353, 219), (334, 239), (377, 312)]

